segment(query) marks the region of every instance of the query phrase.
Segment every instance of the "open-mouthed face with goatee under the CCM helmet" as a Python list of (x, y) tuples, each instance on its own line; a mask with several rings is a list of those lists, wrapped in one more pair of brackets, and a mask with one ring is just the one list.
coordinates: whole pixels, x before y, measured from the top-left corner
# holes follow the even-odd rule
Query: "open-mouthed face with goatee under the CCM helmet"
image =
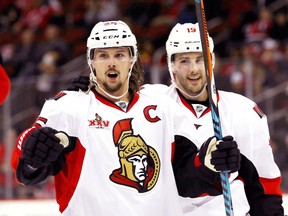
[(132, 65), (129, 48), (95, 49), (92, 65), (97, 82), (105, 91), (115, 96), (126, 91), (128, 72)]

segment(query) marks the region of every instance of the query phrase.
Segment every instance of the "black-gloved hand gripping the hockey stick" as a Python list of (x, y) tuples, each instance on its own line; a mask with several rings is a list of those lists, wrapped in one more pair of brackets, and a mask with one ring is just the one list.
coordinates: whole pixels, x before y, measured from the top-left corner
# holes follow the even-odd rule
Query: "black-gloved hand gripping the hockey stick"
[(201, 146), (199, 160), (214, 172), (236, 172), (240, 169), (241, 154), (232, 136), (218, 141), (213, 136)]

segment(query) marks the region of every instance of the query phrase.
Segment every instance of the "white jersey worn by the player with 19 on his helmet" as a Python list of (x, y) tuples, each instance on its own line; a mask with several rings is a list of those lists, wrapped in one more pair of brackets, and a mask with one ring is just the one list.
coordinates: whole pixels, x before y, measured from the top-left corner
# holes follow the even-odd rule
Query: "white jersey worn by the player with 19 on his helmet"
[[(195, 101), (191, 102), (186, 100), (181, 94), (179, 94), (174, 85), (171, 85), (170, 87), (164, 85), (146, 85), (144, 91), (168, 95), (173, 99), (173, 101), (176, 101), (181, 106), (181, 112), (185, 114), (188, 120), (187, 122), (189, 122), (186, 130), (182, 131), (181, 135), (189, 137), (189, 135), (192, 135), (190, 133), (192, 127), (196, 129), (196, 136), (193, 133), (193, 140), (196, 139), (194, 143), (198, 148), (205, 140), (207, 140), (207, 137), (214, 135), (209, 104), (201, 104)], [(239, 170), (240, 175), (236, 172), (232, 173), (229, 177), (234, 215), (246, 215), (250, 209), (248, 199), (250, 199), (250, 197), (253, 197), (254, 199), (257, 196), (261, 197), (263, 195), (268, 195), (267, 198), (270, 195), (277, 196), (280, 199), (280, 204), (277, 203), (275, 207), (274, 203), (271, 204), (271, 202), (270, 204), (273, 205), (273, 207), (271, 206), (269, 209), (269, 207), (267, 207), (269, 204), (265, 204), (264, 201), (262, 203), (256, 203), (257, 201), (255, 201), (256, 204), (253, 208), (258, 208), (260, 204), (260, 208), (264, 209), (261, 211), (267, 212), (265, 215), (276, 215), (274, 214), (275, 211), (273, 214), (269, 212), (273, 212), (273, 208), (277, 208), (276, 212), (278, 212), (278, 209), (279, 212), (282, 211), (282, 194), (280, 189), (281, 176), (279, 168), (274, 162), (272, 148), (269, 145), (270, 136), (267, 118), (253, 101), (239, 94), (219, 91), (218, 99), (223, 136), (232, 135), (238, 143), (238, 148), (240, 149), (241, 154), (248, 159), (247, 163), (249, 164), (252, 162), (248, 165), (248, 169), (243, 169), (244, 167), (241, 167), (243, 170)], [(243, 163), (245, 160), (244, 156), (242, 156)], [(254, 176), (256, 175), (257, 179), (254, 179), (254, 176), (253, 178), (249, 176), (250, 168), (253, 170), (253, 165), (257, 170), (255, 173), (258, 173), (259, 175), (258, 178), (257, 174), (254, 173)], [(249, 178), (251, 179), (248, 181), (257, 181), (251, 183), (251, 187), (247, 188), (247, 194), (245, 194), (244, 184), (248, 184), (245, 181)], [(259, 184), (257, 183), (258, 181)], [(256, 191), (254, 192), (253, 190)], [(209, 191), (207, 190), (207, 193), (208, 192)], [(263, 194), (261, 194), (262, 192)], [(250, 202), (254, 205), (254, 200)], [(193, 198), (182, 196), (181, 203), (183, 212), (187, 216), (225, 216), (225, 207), (222, 195), (209, 196), (203, 194), (201, 197)], [(265, 210), (265, 208), (268, 209)]]

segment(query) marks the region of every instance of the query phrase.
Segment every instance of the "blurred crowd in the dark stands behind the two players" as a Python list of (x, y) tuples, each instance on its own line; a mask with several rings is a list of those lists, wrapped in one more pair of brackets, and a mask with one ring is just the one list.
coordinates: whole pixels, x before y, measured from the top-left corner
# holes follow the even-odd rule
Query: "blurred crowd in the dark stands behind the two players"
[[(288, 81), (288, 6), (284, 0), (204, 3), (215, 43), (214, 71), (219, 89), (257, 99), (264, 91)], [(34, 105), (40, 109), (46, 98), (61, 90), (57, 81), (64, 73), (63, 65), (85, 56), (86, 39), (95, 23), (118, 19), (127, 22), (136, 34), (145, 82), (169, 85), (165, 42), (177, 22), (197, 22), (194, 0), (1, 0), (0, 53), (12, 91), (14, 83), (23, 84), (25, 92), (24, 83), (32, 80)], [(273, 97), (273, 112), (288, 108), (287, 94), (288, 89)], [(17, 106), (19, 103), (25, 103), (25, 99), (17, 101)], [(267, 103), (259, 103), (269, 117)], [(13, 140), (29, 125), (13, 126), (15, 130), (0, 136), (0, 198), (5, 198), (2, 185), (7, 172), (4, 137)], [(271, 130), (271, 146), (282, 171), (284, 191), (288, 191), (287, 128), (288, 114), (273, 122)], [(13, 197), (53, 197), (52, 185), (52, 181), (39, 187), (13, 183)]]

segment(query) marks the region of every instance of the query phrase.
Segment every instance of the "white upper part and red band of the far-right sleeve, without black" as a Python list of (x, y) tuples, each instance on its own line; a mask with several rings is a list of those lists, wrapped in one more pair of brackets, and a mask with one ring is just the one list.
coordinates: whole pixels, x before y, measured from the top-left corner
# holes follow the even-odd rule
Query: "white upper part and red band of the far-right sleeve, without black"
[(280, 190), (281, 175), (270, 146), (267, 117), (256, 104), (253, 104), (246, 119), (248, 121), (245, 121), (246, 125), (243, 124), (244, 130), (238, 132), (240, 133), (239, 140), (237, 137), (235, 138), (237, 142), (243, 142), (240, 145), (246, 146), (241, 148), (241, 152), (256, 167), (265, 194), (282, 196)]

